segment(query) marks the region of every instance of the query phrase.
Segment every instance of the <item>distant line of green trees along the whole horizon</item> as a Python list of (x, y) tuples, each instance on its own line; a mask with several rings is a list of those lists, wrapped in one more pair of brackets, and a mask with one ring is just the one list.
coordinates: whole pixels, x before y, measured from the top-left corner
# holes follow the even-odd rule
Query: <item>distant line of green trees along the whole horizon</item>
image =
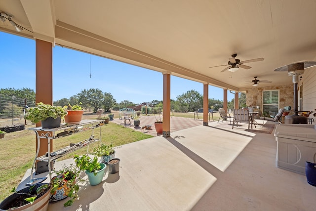
[[(35, 92), (30, 88), (23, 89), (14, 89), (14, 88), (6, 88), (0, 89), (0, 94), (16, 96), (19, 98), (27, 98), (28, 100), (34, 100), (35, 102)], [(137, 104), (134, 102), (123, 100), (118, 103), (114, 96), (110, 92), (103, 92), (98, 88), (90, 88), (83, 89), (78, 94), (71, 96), (70, 98), (62, 98), (57, 101), (54, 101), (54, 105), (56, 106), (65, 106), (71, 104), (82, 103), (82, 107), (85, 109), (91, 110), (93, 112), (98, 112), (100, 109), (103, 109), (105, 112), (111, 112), (111, 110), (119, 110), (120, 108), (126, 107), (134, 107)], [(239, 93), (239, 107), (245, 107), (246, 104), (246, 94), (240, 92)], [(162, 108), (162, 101), (153, 100), (148, 102), (153, 106), (153, 111), (156, 113)], [(208, 100), (208, 108), (214, 109), (215, 111), (218, 108), (223, 107), (223, 100), (209, 99)], [(228, 102), (228, 109), (234, 109), (235, 99), (232, 99)], [(182, 95), (178, 95), (176, 100), (171, 99), (170, 101), (171, 110), (173, 112), (193, 112), (197, 111), (199, 108), (203, 108), (203, 96), (196, 90), (190, 90)]]

